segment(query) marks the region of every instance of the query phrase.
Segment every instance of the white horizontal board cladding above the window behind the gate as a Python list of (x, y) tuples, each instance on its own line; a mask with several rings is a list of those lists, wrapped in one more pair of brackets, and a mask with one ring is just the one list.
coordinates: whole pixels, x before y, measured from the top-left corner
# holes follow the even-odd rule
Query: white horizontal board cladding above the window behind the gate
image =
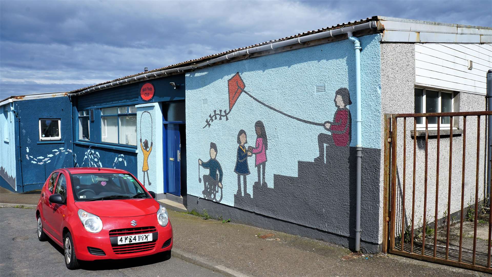
[[(468, 69), (468, 60), (473, 69)], [(486, 94), (492, 44), (415, 43), (415, 84)]]

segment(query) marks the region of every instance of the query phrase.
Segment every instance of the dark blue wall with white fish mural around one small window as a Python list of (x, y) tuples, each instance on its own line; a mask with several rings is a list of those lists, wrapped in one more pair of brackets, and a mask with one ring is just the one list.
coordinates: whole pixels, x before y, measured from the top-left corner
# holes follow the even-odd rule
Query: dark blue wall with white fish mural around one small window
[[(18, 192), (40, 189), (54, 170), (73, 166), (71, 104), (68, 97), (53, 97), (14, 102), (20, 117), (22, 184), (17, 178)], [(61, 140), (39, 141), (39, 119), (61, 119)], [(20, 188), (19, 188), (20, 186)], [(23, 187), (23, 188), (22, 188)]]

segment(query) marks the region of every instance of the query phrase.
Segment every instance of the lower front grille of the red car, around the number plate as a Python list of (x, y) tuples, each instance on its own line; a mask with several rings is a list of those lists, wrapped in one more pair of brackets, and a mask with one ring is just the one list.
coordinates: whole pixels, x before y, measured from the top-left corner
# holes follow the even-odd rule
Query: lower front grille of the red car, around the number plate
[[(132, 236), (140, 234), (152, 233), (152, 242), (136, 242), (127, 244), (118, 244), (119, 236)], [(109, 231), (109, 239), (111, 241), (111, 246), (113, 247), (113, 252), (115, 254), (130, 254), (144, 251), (152, 251), (157, 243), (158, 233), (154, 226), (148, 227), (136, 227), (136, 228), (125, 228), (125, 229), (114, 229)]]

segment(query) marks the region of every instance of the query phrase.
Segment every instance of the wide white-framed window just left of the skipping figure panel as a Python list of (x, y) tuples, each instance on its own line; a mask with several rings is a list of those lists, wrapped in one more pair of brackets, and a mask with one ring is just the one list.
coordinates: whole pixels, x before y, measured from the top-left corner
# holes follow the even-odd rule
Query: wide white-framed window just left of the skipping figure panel
[(137, 108), (101, 108), (101, 141), (137, 145)]

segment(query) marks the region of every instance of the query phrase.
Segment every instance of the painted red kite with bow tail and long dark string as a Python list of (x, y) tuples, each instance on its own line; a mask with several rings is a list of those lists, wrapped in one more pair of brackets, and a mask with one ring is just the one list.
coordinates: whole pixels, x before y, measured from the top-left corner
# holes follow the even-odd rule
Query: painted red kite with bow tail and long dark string
[(276, 111), (282, 115), (285, 115), (289, 118), (298, 120), (300, 122), (307, 123), (310, 125), (316, 125), (316, 126), (325, 126), (326, 123), (331, 123), (328, 121), (324, 122), (324, 123), (318, 123), (318, 122), (313, 122), (313, 121), (301, 119), (299, 117), (295, 117), (295, 116), (287, 114), (281, 110), (278, 110), (269, 104), (263, 103), (262, 101), (258, 100), (256, 97), (252, 96), (249, 92), (247, 92), (245, 90), (246, 85), (245, 85), (245, 82), (243, 81), (243, 78), (241, 78), (241, 75), (239, 75), (239, 72), (237, 72), (236, 74), (234, 74), (234, 76), (232, 76), (229, 80), (227, 80), (227, 86), (229, 88), (229, 110), (219, 109), (218, 113), (217, 113), (217, 110), (214, 110), (214, 112), (211, 113), (209, 115), (209, 117), (205, 120), (206, 124), (203, 128), (206, 128), (206, 127), (210, 128), (210, 125), (212, 122), (214, 122), (214, 120), (217, 120), (217, 119), (222, 120), (222, 117), (225, 117), (226, 121), (229, 120), (229, 113), (231, 112), (232, 107), (234, 106), (234, 104), (236, 104), (236, 101), (238, 100), (239, 96), (241, 96), (242, 93), (246, 94), (248, 97), (250, 97), (252, 100), (258, 102), (259, 104), (262, 104), (271, 110), (274, 110), (274, 111)]

